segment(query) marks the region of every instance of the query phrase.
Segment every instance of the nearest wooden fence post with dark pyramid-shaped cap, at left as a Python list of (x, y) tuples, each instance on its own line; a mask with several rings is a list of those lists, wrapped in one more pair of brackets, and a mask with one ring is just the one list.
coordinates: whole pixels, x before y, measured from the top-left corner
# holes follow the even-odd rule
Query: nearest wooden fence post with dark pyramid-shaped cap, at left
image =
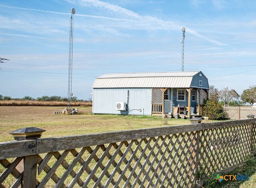
[[(44, 129), (38, 129), (36, 127), (20, 128), (10, 132), (14, 139), (17, 141), (38, 139), (41, 137)], [(35, 145), (31, 145), (35, 147)], [(30, 148), (32, 149), (32, 148)], [(36, 187), (36, 171), (37, 171), (37, 155), (25, 156), (22, 161), (17, 165), (17, 170), (22, 173), (22, 181), (19, 187), (21, 188), (35, 188)], [(14, 182), (16, 180), (14, 179)]]

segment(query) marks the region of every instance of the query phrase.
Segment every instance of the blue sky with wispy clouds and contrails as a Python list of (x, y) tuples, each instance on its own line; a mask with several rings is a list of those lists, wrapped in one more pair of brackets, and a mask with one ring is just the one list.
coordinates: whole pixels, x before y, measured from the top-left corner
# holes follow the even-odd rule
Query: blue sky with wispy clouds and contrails
[(239, 94), (256, 80), (254, 0), (0, 1), (0, 94), (67, 96), (70, 9), (75, 8), (72, 92), (91, 97), (97, 76), (202, 71)]

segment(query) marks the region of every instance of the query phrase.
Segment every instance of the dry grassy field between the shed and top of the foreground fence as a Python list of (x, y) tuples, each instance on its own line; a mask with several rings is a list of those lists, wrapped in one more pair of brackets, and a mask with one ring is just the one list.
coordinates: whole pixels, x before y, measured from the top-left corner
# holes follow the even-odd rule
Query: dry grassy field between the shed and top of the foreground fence
[[(65, 107), (1, 106), (0, 142), (12, 141), (8, 134), (21, 127), (45, 129), (46, 137), (83, 135), (88, 133), (140, 129), (164, 125), (164, 119), (154, 116), (121, 116), (92, 114), (92, 107), (79, 108), (79, 115), (55, 115)], [(168, 119), (167, 125), (190, 124), (188, 119)]]

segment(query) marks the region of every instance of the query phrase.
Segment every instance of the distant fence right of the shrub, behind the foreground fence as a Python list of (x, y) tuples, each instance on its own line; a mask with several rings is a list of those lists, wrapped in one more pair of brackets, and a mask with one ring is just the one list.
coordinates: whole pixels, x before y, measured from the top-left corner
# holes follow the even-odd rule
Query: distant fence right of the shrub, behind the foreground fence
[(256, 116), (256, 108), (225, 107), (224, 109), (230, 119), (247, 119), (250, 114)]

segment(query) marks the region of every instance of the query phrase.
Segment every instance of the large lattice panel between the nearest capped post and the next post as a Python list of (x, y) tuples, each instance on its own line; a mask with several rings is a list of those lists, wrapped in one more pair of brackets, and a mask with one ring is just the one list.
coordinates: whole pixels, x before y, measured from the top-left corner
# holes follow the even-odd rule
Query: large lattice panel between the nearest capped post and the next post
[(40, 187), (187, 187), (195, 178), (194, 132), (48, 153)]

